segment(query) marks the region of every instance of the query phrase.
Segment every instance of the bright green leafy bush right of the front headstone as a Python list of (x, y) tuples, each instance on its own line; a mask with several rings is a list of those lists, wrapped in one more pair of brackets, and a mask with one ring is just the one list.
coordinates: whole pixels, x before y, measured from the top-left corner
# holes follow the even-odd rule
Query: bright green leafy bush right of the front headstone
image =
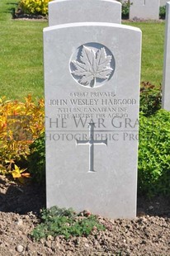
[(140, 115), (139, 193), (170, 195), (170, 112)]

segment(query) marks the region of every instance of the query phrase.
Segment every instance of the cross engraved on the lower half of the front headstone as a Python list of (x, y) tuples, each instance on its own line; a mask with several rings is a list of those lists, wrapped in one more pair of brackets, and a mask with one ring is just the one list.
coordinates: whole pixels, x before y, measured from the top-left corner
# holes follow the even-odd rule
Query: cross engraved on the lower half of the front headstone
[(89, 123), (89, 140), (76, 140), (77, 145), (89, 145), (89, 171), (94, 173), (94, 145), (107, 145), (106, 140), (93, 140), (94, 139), (94, 123)]

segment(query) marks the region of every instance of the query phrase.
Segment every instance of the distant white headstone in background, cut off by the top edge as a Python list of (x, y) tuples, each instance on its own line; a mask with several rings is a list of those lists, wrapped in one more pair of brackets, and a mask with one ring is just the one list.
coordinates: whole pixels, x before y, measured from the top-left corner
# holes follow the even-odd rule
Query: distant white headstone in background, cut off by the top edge
[(159, 19), (160, 0), (130, 0), (130, 20), (135, 18), (144, 20)]

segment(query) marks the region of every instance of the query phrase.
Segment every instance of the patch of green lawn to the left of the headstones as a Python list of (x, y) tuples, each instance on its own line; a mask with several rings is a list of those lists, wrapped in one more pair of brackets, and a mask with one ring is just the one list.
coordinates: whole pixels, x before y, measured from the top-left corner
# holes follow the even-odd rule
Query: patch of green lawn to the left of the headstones
[(0, 2), (0, 97), (20, 99), (44, 95), (43, 28), (47, 21), (12, 20), (17, 2)]

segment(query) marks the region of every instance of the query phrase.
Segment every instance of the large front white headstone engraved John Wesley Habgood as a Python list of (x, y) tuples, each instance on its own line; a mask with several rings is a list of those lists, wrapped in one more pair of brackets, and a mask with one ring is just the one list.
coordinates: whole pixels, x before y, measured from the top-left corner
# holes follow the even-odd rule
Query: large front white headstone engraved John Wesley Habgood
[(141, 31), (44, 30), (47, 207), (136, 215)]

